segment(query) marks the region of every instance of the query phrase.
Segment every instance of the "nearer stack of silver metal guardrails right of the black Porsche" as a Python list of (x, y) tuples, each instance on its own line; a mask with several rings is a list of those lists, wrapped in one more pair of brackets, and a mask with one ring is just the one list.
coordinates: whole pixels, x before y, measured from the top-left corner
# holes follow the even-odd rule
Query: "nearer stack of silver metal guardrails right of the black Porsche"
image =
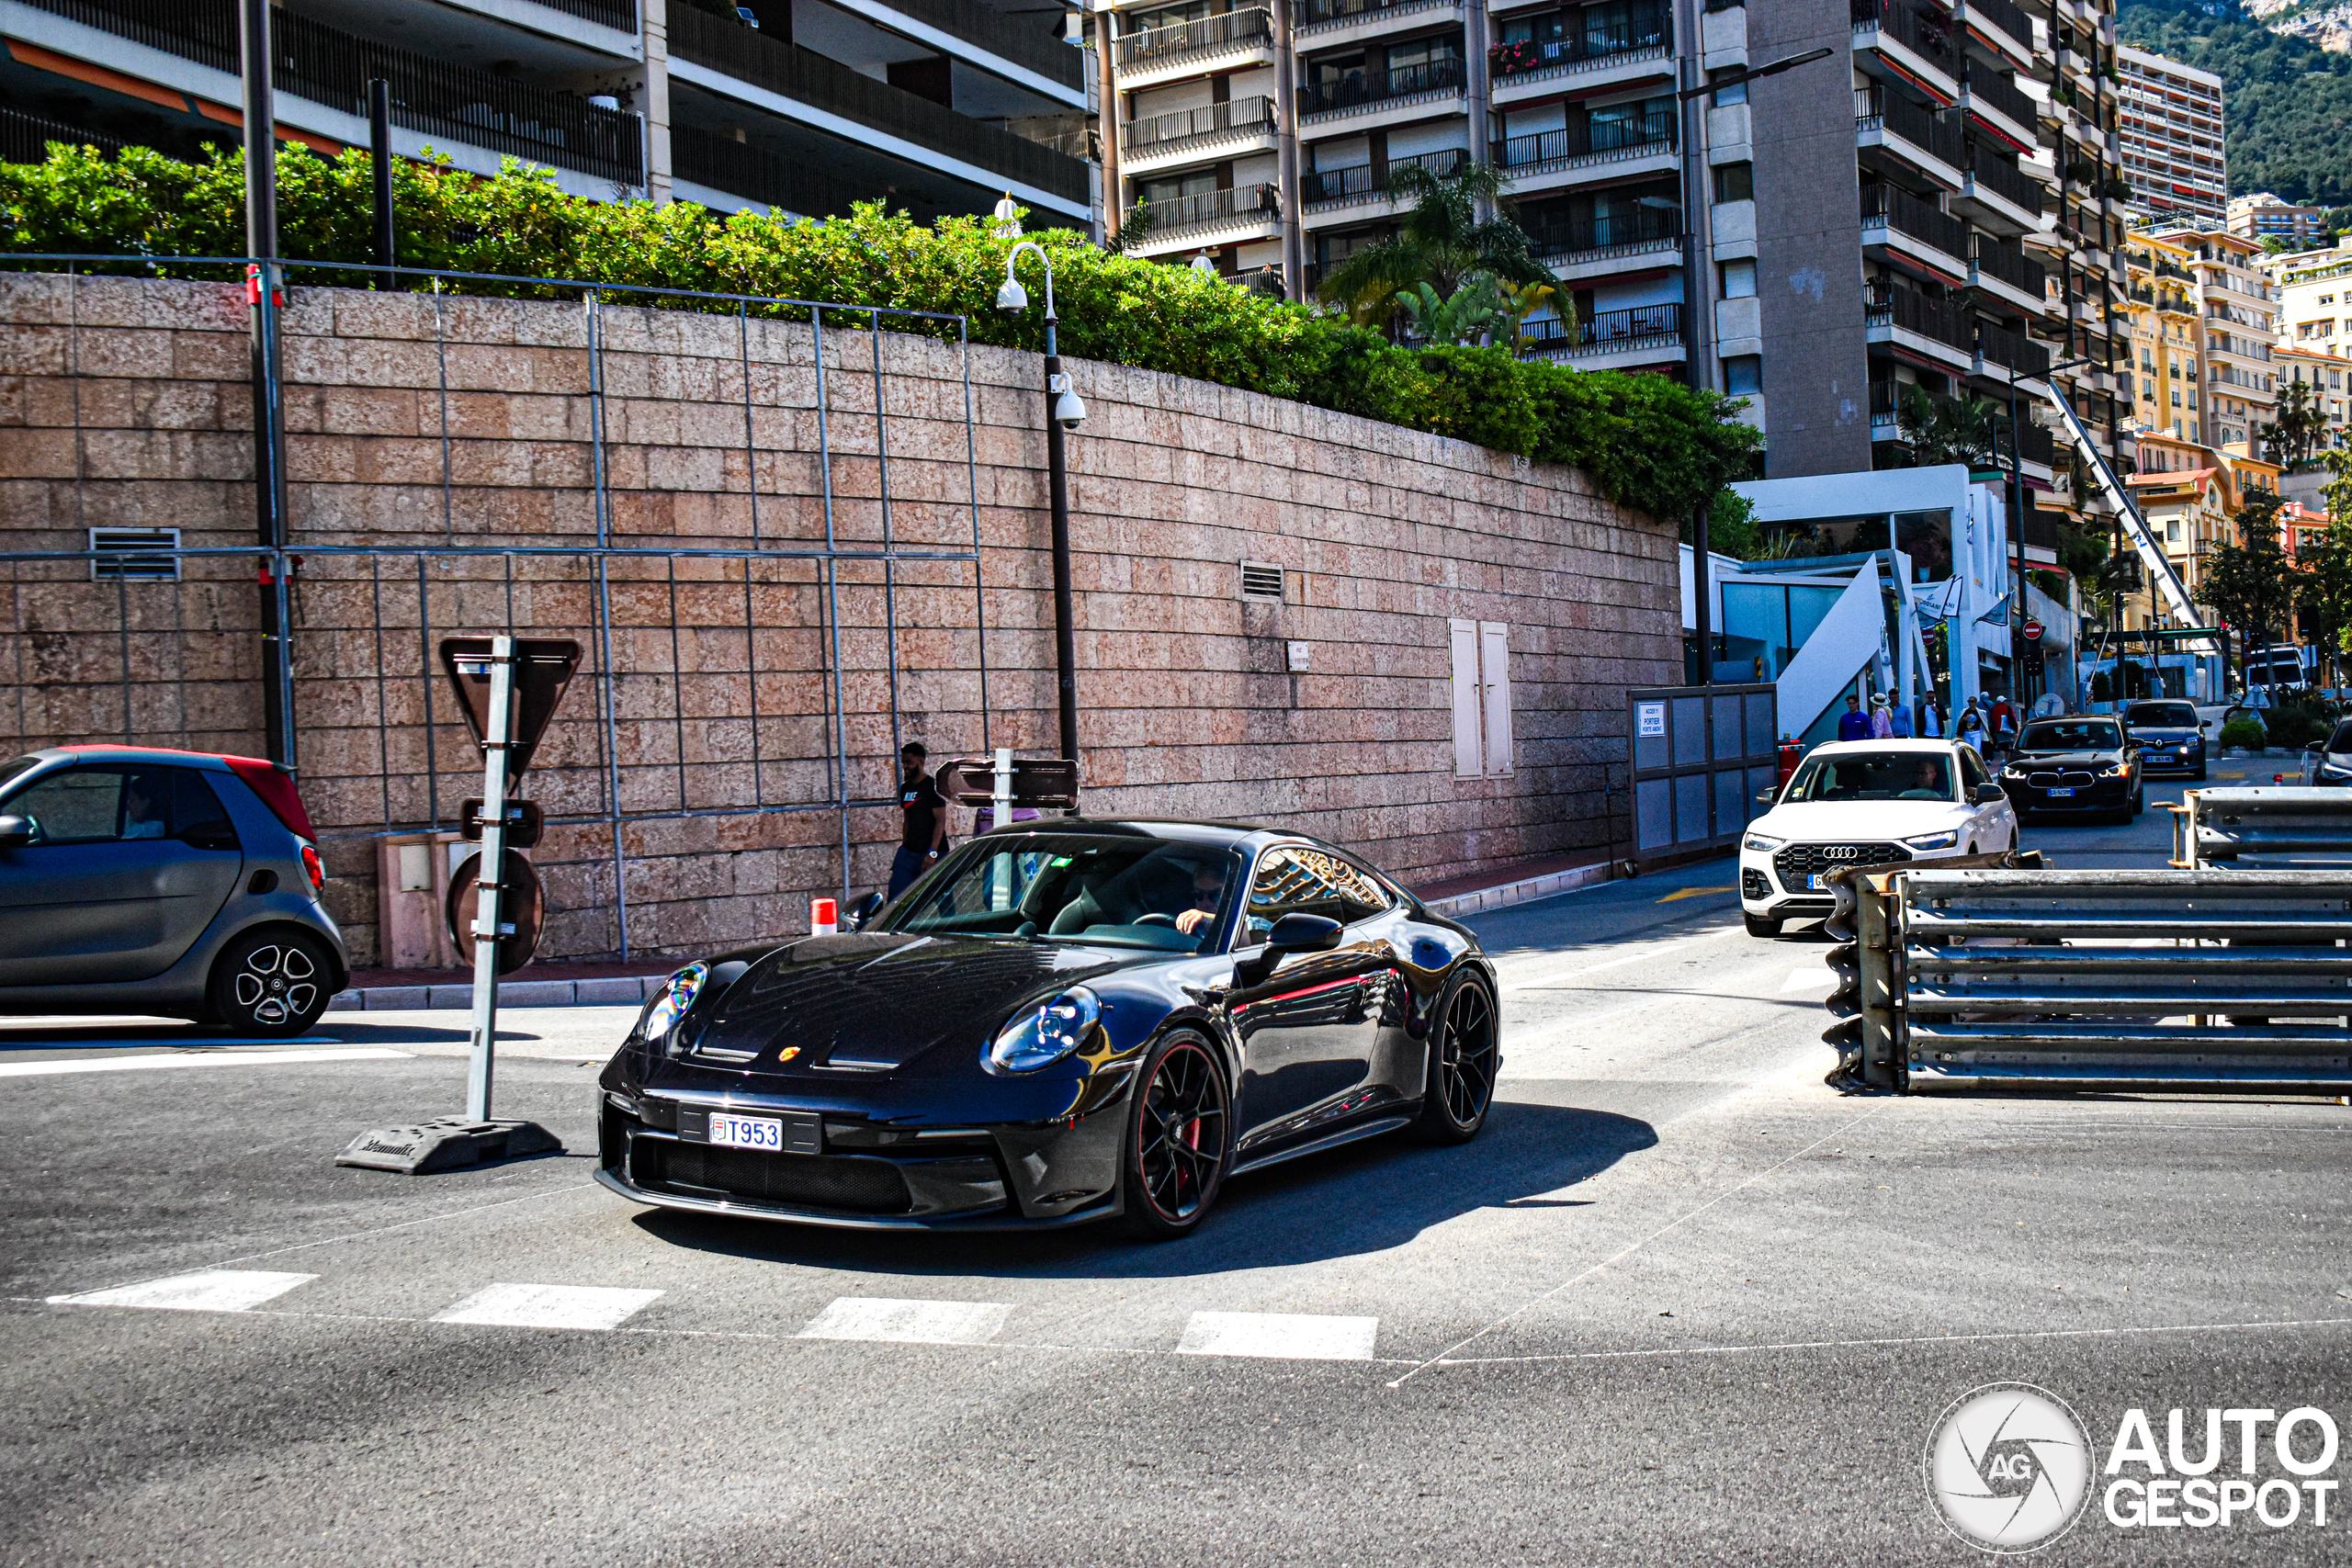
[(2032, 867), (1839, 879), (1830, 1084), (2352, 1084), (2352, 875)]

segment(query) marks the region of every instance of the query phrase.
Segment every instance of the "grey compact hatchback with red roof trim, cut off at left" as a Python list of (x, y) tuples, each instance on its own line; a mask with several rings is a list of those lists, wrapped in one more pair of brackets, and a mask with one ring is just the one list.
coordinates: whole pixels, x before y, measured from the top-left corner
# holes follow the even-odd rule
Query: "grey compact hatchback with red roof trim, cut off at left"
[(160, 1013), (301, 1034), (350, 961), (294, 776), (61, 745), (0, 764), (0, 1013)]

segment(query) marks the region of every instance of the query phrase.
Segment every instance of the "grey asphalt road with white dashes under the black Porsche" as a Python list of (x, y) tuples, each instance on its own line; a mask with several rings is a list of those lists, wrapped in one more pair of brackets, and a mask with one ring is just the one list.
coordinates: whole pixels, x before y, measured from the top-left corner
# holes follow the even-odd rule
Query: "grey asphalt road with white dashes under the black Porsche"
[[(2166, 823), (2025, 842), (2147, 865)], [(501, 1112), (574, 1154), (435, 1178), (329, 1159), (461, 1103), (454, 1013), (0, 1034), (0, 1561), (1957, 1563), (1922, 1453), (1978, 1385), (2096, 1458), (2131, 1408), (2352, 1427), (2345, 1107), (1839, 1098), (1823, 943), (1748, 938), (1729, 863), (1477, 924), (1486, 1133), (1242, 1178), (1160, 1248), (640, 1211), (588, 1182), (623, 1009), (508, 1013)], [(2345, 1528), (2093, 1500), (2039, 1561)]]

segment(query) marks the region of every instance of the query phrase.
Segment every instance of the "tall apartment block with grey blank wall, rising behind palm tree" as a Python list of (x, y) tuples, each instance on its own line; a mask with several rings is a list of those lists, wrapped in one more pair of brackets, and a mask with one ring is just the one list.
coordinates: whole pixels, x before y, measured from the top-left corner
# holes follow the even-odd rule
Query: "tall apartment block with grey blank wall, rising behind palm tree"
[[(1773, 477), (1903, 465), (1905, 386), (2039, 402), (2053, 360), (2091, 362), (2063, 386), (2119, 433), (2112, 0), (1112, 0), (1098, 26), (1134, 254), (1310, 296), (1395, 233), (1397, 169), (1484, 162), (1573, 303), (1529, 322), (1541, 353), (1748, 397)], [(2046, 428), (2023, 444), (2051, 484)]]

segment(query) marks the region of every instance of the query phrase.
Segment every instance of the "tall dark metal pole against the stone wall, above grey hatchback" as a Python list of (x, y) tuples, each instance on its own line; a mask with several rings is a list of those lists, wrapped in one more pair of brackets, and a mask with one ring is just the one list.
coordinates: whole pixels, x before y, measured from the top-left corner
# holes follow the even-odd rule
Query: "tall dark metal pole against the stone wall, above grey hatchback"
[[(270, 103), (270, 0), (242, 0), (238, 49), (245, 68), (245, 303), (252, 322), (254, 536), (263, 550), (287, 541), (285, 421), (278, 407), (278, 120)], [(292, 762), (285, 710), (285, 623), (268, 557), (261, 567), (261, 745)]]

